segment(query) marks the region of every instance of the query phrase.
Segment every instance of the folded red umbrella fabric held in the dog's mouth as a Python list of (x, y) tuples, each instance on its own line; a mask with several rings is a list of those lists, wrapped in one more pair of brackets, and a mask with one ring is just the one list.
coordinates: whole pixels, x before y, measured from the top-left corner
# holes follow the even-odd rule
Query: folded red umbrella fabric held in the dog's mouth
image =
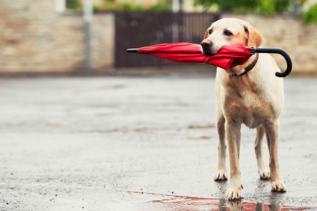
[(168, 59), (180, 63), (208, 63), (224, 69), (229, 69), (248, 61), (251, 48), (242, 43), (225, 45), (218, 53), (204, 55), (200, 44), (189, 42), (164, 43), (137, 48), (136, 52)]

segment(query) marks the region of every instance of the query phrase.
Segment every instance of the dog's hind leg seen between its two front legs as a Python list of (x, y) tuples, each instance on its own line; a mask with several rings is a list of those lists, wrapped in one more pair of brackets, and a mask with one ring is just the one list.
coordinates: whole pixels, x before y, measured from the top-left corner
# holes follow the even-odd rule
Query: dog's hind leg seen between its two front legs
[(262, 158), (262, 141), (265, 134), (265, 129), (261, 125), (256, 128), (256, 138), (254, 143), (255, 149), (255, 156), (258, 165), (258, 173), (260, 175), (260, 179), (269, 180), (270, 179), (270, 172), (268, 171), (267, 167), (265, 166)]

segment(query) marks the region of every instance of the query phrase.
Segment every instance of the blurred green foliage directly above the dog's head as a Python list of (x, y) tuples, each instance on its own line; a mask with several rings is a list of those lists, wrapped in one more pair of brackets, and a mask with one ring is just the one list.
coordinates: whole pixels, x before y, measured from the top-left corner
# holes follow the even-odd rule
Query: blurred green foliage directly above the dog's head
[(195, 0), (195, 5), (208, 8), (217, 5), (219, 12), (257, 12), (266, 16), (284, 12), (294, 0)]

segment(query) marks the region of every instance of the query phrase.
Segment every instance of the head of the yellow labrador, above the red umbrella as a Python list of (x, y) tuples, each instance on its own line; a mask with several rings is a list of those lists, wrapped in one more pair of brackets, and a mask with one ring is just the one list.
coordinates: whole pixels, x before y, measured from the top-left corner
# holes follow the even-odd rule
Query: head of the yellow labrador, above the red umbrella
[(243, 43), (246, 46), (258, 47), (263, 37), (248, 22), (234, 18), (220, 19), (212, 23), (201, 42), (204, 54), (216, 54), (224, 45)]

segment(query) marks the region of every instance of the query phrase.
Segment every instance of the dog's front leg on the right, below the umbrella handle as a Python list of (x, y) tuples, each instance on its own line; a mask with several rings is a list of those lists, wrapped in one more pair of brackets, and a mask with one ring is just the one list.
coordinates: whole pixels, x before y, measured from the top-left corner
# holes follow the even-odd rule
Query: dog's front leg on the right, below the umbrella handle
[(284, 192), (286, 191), (283, 180), (279, 173), (278, 163), (278, 141), (279, 141), (279, 120), (272, 122), (267, 121), (265, 125), (266, 137), (268, 141), (268, 148), (270, 153), (270, 173), (271, 173), (271, 188), (272, 191)]

